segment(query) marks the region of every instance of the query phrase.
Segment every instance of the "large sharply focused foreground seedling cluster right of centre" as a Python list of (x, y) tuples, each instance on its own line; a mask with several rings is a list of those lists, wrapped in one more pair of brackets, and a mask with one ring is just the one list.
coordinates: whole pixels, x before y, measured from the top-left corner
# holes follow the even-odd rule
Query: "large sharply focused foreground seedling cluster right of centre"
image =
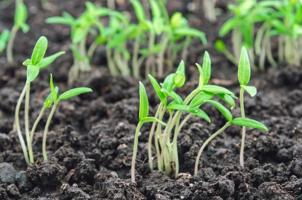
[[(220, 87), (217, 85), (208, 84), (210, 75), (211, 75), (211, 60), (209, 54), (205, 52), (203, 65), (202, 67), (196, 64), (200, 73), (199, 76), (199, 84), (197, 88), (195, 88), (184, 100), (175, 92), (175, 89), (183, 86), (185, 83), (185, 66), (182, 61), (179, 67), (176, 70), (176, 73), (169, 74), (162, 86), (158, 84), (156, 79), (149, 75), (149, 79), (161, 100), (161, 103), (157, 109), (154, 118), (148, 118), (148, 104), (147, 97), (145, 94), (144, 87), (142, 83), (140, 83), (140, 107), (139, 107), (139, 120), (137, 126), (137, 131), (135, 133), (135, 141), (134, 141), (134, 152), (132, 159), (132, 168), (131, 168), (131, 179), (135, 182), (134, 177), (134, 165), (135, 165), (135, 155), (137, 150), (137, 140), (138, 140), (138, 131), (143, 122), (153, 122), (153, 125), (150, 130), (149, 141), (148, 141), (148, 156), (149, 156), (149, 166), (150, 170), (153, 171), (153, 158), (152, 158), (152, 142), (153, 135), (155, 133), (155, 147), (157, 153), (157, 163), (158, 169), (165, 171), (170, 176), (177, 176), (179, 174), (179, 161), (178, 161), (178, 151), (177, 151), (177, 136), (184, 126), (184, 124), (190, 119), (192, 116), (199, 116), (202, 119), (206, 120), (210, 123), (210, 118), (208, 115), (202, 111), (199, 107), (202, 107), (203, 104), (211, 104), (215, 106), (222, 115), (226, 118), (226, 124), (219, 129), (216, 133), (214, 133), (208, 140), (204, 142), (202, 145), (198, 156), (196, 158), (195, 163), (195, 174), (198, 171), (199, 158), (202, 154), (205, 146), (218, 134), (220, 134), (223, 130), (228, 128), (230, 125), (242, 126), (242, 145), (240, 151), (240, 164), (244, 166), (243, 162), (243, 152), (244, 152), (244, 141), (245, 141), (245, 127), (252, 127), (256, 129), (262, 129), (267, 131), (267, 128), (252, 119), (248, 119), (244, 114), (244, 103), (243, 103), (243, 93), (246, 90), (251, 96), (254, 96), (257, 92), (256, 88), (253, 86), (248, 86), (248, 82), (250, 80), (250, 62), (246, 49), (243, 47), (239, 62), (238, 69), (238, 78), (241, 86), (240, 92), (240, 107), (242, 116), (240, 118), (233, 118), (232, 113), (226, 109), (222, 104), (217, 101), (212, 100), (214, 95), (217, 95), (222, 101), (229, 104), (231, 109), (235, 107), (235, 100), (237, 97), (234, 93), (224, 87)], [(168, 97), (171, 97), (173, 100), (168, 102)], [(163, 122), (163, 117), (166, 112), (169, 112), (170, 118), (165, 124)], [(181, 121), (181, 114), (186, 112), (186, 117)], [(150, 120), (144, 120), (150, 119)], [(162, 125), (165, 126), (165, 129), (162, 130)], [(171, 132), (174, 129), (174, 135), (171, 142)]]

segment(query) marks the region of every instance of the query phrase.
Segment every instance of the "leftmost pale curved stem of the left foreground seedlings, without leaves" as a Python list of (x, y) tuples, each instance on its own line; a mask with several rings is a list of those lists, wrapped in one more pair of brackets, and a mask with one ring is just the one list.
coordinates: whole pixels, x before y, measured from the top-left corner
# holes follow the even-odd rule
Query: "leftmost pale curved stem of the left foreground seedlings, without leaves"
[(23, 100), (23, 98), (25, 96), (25, 93), (26, 93), (27, 84), (28, 83), (25, 83), (24, 88), (23, 88), (23, 90), (20, 94), (20, 97), (18, 99), (18, 102), (17, 102), (16, 111), (15, 111), (15, 124), (16, 124), (18, 138), (19, 138), (19, 141), (20, 141), (20, 144), (21, 144), (21, 147), (22, 147), (22, 151), (23, 151), (23, 154), (24, 154), (24, 159), (26, 161), (26, 164), (29, 164), (27, 148), (26, 148), (26, 144), (24, 142), (23, 136), (22, 136), (22, 132), (21, 132), (21, 128), (20, 128), (20, 121), (19, 121), (20, 106), (21, 106), (22, 100)]

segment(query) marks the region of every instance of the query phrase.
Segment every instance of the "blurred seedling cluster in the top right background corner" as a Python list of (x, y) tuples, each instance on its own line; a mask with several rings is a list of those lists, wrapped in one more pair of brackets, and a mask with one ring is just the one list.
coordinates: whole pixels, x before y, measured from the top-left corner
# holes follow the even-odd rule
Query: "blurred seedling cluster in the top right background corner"
[[(301, 1), (237, 1), (228, 5), (234, 17), (226, 21), (219, 36), (232, 31), (233, 54), (218, 40), (215, 48), (238, 65), (242, 46), (247, 48), (253, 70), (264, 70), (265, 60), (276, 67), (272, 54), (271, 37), (278, 38), (278, 62), (299, 66), (302, 59), (302, 4)], [(256, 23), (262, 23), (256, 30)], [(257, 67), (256, 56), (259, 57)]]

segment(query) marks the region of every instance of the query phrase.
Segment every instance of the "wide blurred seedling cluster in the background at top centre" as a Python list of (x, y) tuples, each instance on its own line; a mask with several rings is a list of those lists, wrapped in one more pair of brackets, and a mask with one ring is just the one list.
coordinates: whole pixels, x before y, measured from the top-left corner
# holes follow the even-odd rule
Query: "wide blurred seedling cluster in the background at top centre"
[[(183, 59), (186, 59), (188, 46), (194, 37), (200, 38), (202, 43), (206, 44), (205, 34), (190, 28), (181, 13), (175, 13), (169, 18), (163, 1), (149, 1), (152, 20), (146, 19), (143, 6), (138, 0), (130, 2), (138, 20), (137, 24), (131, 24), (120, 12), (97, 7), (90, 2), (86, 2), (87, 10), (78, 19), (74, 19), (66, 12), (62, 13), (62, 17), (46, 19), (45, 22), (49, 24), (66, 24), (71, 27), (70, 48), (74, 64), (70, 69), (69, 81), (77, 78), (80, 71), (91, 69), (90, 61), (99, 45), (106, 45), (107, 63), (112, 76), (132, 74), (134, 77), (140, 77), (140, 69), (145, 61), (146, 77), (149, 73), (163, 77), (166, 54), (171, 69), (180, 50)], [(106, 28), (99, 21), (105, 16), (110, 17), (109, 26)], [(93, 27), (97, 27), (98, 31)], [(96, 37), (86, 52), (89, 33)], [(161, 37), (160, 43), (156, 43), (157, 37)], [(127, 49), (127, 43), (131, 40), (134, 40), (132, 56)], [(146, 42), (147, 47), (142, 47)], [(130, 60), (131, 68), (128, 64)]]

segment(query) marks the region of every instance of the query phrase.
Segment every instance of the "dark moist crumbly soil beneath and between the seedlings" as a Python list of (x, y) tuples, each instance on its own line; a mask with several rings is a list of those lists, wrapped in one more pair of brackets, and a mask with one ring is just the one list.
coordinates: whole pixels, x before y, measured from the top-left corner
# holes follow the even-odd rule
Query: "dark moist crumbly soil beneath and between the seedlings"
[[(118, 2), (118, 10), (127, 10), (133, 15), (128, 1)], [(168, 3), (169, 12), (185, 14), (190, 26), (204, 31), (208, 39), (206, 46), (198, 40), (190, 46), (186, 62), (187, 82), (178, 93), (184, 98), (197, 86), (198, 70), (194, 63), (202, 63), (207, 50), (212, 60), (211, 84), (229, 88), (239, 96), (237, 67), (213, 48), (219, 28), (229, 16), (222, 12), (218, 21), (211, 24), (201, 11), (193, 15), (186, 10), (189, 1), (171, 2)], [(204, 105), (202, 109), (210, 116), (211, 123), (198, 117), (191, 118), (178, 137), (180, 171), (183, 173), (176, 179), (157, 170), (150, 173), (147, 140), (151, 125), (145, 124), (138, 144), (137, 182), (132, 183), (129, 170), (138, 123), (138, 80), (110, 77), (105, 48), (99, 47), (94, 56), (93, 71), (81, 74), (68, 86), (67, 74), (72, 65), (72, 54), (68, 49), (70, 30), (63, 25), (46, 25), (44, 20), (59, 16), (62, 11), (79, 16), (85, 10), (85, 1), (50, 1), (50, 10), (43, 10), (39, 3), (25, 1), (31, 30), (28, 34), (18, 32), (14, 45), (15, 63), (9, 64), (5, 53), (0, 54), (0, 199), (302, 199), (300, 67), (280, 64), (278, 68), (267, 67), (265, 72), (252, 73), (250, 85), (256, 86), (258, 93), (253, 98), (246, 94), (246, 116), (259, 120), (269, 131), (247, 129), (245, 168), (239, 166), (241, 128), (231, 126), (206, 147), (198, 175), (192, 175), (199, 148), (225, 123), (213, 106)], [(98, 3), (106, 5), (104, 0)], [(217, 6), (225, 11), (227, 3), (218, 1)], [(15, 8), (14, 5), (4, 8), (1, 4), (0, 9), (2, 32), (5, 28), (11, 29)], [(108, 23), (108, 19), (102, 20), (104, 24)], [(58, 106), (47, 136), (47, 162), (42, 160), (41, 154), (42, 132), (49, 114), (49, 111), (45, 112), (33, 141), (36, 162), (26, 166), (13, 126), (14, 112), (26, 81), (26, 67), (22, 62), (31, 56), (41, 35), (48, 38), (47, 55), (62, 50), (66, 54), (41, 70), (33, 82), (30, 124), (34, 123), (50, 92), (50, 73), (61, 91), (87, 86), (93, 92), (62, 101)], [(88, 40), (91, 43), (93, 37)], [(230, 43), (230, 36), (223, 40)], [(149, 116), (154, 116), (159, 99), (149, 82), (144, 81), (144, 84), (150, 105)], [(235, 117), (240, 116), (238, 101), (232, 113)], [(20, 115), (23, 119), (24, 105)], [(22, 120), (21, 127), (24, 127)], [(155, 166), (156, 163), (155, 156)]]

